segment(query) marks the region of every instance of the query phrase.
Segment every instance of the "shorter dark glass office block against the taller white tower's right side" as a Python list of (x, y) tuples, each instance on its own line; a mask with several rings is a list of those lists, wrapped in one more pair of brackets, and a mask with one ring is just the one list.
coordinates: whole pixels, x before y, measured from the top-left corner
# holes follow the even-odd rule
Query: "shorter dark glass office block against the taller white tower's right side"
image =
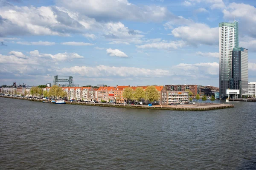
[[(248, 94), (248, 50), (235, 47), (232, 51), (232, 80), (230, 89), (239, 90), (239, 97)], [(233, 82), (233, 85), (232, 85)]]

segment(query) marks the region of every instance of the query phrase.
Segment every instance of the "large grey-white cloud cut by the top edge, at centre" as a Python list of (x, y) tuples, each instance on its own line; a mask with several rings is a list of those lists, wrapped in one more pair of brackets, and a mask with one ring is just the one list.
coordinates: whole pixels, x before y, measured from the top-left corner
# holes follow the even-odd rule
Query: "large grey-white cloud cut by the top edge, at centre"
[(172, 14), (162, 6), (136, 6), (128, 0), (57, 0), (62, 6), (96, 20), (162, 21)]

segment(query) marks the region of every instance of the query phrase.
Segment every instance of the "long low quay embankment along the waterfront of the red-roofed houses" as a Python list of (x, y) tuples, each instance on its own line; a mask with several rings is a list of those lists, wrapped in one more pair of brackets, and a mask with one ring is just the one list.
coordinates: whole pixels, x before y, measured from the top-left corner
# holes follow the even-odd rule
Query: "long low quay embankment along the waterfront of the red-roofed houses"
[[(20, 97), (0, 96), (11, 99), (29, 100), (35, 102), (43, 102), (43, 99), (27, 99)], [(173, 111), (209, 111), (215, 109), (234, 108), (234, 105), (227, 104), (201, 104), (198, 105), (119, 105), (119, 104), (104, 104), (104, 103), (85, 103), (85, 102), (66, 102), (69, 105), (87, 105), (87, 106), (99, 106), (99, 107), (115, 107), (115, 108), (137, 108), (137, 109), (159, 109), (159, 110), (173, 110)]]

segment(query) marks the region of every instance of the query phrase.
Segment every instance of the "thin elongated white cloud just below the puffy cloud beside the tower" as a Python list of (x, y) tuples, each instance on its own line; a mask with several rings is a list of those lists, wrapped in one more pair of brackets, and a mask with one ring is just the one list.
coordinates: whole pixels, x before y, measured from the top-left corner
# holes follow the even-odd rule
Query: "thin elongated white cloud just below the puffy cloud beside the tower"
[(172, 41), (172, 42), (155, 42), (144, 45), (136, 45), (137, 48), (155, 48), (155, 49), (164, 49), (164, 50), (172, 50), (177, 48), (182, 48), (186, 45), (183, 40), (180, 41)]

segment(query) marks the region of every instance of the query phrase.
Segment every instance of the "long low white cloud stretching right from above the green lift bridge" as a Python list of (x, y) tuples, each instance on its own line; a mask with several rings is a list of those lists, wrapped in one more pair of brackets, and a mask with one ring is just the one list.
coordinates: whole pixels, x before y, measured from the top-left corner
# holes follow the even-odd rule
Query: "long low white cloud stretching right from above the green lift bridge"
[(85, 77), (163, 77), (169, 75), (169, 71), (162, 69), (151, 70), (134, 67), (111, 67), (106, 65), (98, 65), (96, 67), (74, 66), (58, 70), (59, 73), (63, 71), (70, 74), (80, 74)]

